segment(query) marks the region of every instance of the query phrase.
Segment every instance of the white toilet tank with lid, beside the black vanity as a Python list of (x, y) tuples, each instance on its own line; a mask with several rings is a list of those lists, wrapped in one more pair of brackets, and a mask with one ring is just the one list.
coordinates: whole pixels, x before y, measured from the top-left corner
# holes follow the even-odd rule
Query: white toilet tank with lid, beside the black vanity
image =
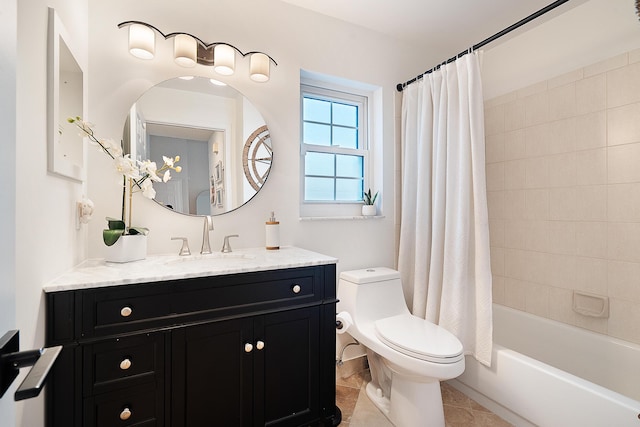
[(338, 311), (354, 323), (409, 313), (400, 273), (386, 267), (343, 271), (338, 282)]

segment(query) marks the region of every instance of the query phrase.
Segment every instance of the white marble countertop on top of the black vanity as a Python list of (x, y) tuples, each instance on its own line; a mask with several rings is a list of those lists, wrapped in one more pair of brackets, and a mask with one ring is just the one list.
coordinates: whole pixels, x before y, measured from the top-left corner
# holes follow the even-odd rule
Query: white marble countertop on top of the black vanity
[(335, 264), (337, 258), (286, 246), (278, 250), (237, 249), (210, 255), (156, 255), (124, 264), (89, 259), (43, 286), (45, 292), (160, 282), (189, 277)]

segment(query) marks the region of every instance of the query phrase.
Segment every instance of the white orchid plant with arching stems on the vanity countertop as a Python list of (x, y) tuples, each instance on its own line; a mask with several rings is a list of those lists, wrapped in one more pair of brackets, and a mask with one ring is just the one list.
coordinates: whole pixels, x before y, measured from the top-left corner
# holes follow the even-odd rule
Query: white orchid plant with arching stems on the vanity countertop
[[(156, 191), (154, 182), (167, 182), (171, 179), (171, 171), (180, 172), (182, 168), (176, 166), (180, 156), (162, 156), (164, 164), (158, 168), (155, 162), (150, 160), (134, 160), (130, 154), (124, 154), (122, 146), (112, 139), (97, 138), (93, 132), (93, 124), (82, 120), (80, 117), (69, 117), (69, 123), (80, 129), (80, 135), (86, 136), (92, 145), (106, 153), (114, 160), (116, 171), (122, 176), (122, 215), (120, 219), (107, 217), (108, 229), (102, 231), (102, 239), (105, 245), (111, 246), (118, 241), (120, 236), (128, 234), (147, 234), (148, 228), (131, 226), (131, 206), (133, 193), (140, 191), (142, 195), (153, 199)], [(120, 184), (120, 182), (119, 182)], [(128, 203), (127, 203), (128, 202)], [(125, 208), (128, 205), (128, 209)], [(128, 221), (125, 221), (125, 212), (128, 211)], [(127, 225), (127, 223), (129, 225)]]

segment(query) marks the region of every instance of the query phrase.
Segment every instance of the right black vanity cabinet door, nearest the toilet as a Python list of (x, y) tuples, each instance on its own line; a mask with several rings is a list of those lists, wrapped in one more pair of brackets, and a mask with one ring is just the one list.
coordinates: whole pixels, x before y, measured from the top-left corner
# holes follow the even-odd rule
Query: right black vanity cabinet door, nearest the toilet
[(317, 419), (319, 307), (258, 317), (254, 327), (254, 425), (301, 426)]

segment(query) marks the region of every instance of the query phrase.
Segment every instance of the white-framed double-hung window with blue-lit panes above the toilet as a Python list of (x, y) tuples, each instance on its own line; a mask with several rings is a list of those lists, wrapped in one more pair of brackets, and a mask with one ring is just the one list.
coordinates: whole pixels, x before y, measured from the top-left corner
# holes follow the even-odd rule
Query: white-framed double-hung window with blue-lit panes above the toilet
[(368, 170), (367, 97), (301, 85), (302, 200), (357, 203)]

